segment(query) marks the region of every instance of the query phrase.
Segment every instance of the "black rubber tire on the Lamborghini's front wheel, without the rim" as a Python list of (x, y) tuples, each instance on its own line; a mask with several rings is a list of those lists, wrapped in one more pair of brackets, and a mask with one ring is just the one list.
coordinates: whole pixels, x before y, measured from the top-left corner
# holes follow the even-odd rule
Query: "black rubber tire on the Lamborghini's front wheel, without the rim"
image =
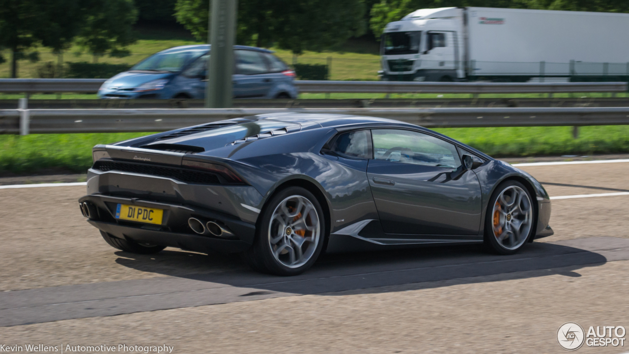
[[(528, 202), (530, 203), (531, 212), (521, 213), (521, 215), (530, 214), (530, 222), (528, 226), (528, 231), (518, 232), (519, 234), (519, 236), (517, 237), (518, 241), (513, 242), (513, 244), (510, 245), (511, 247), (507, 247), (501, 241), (499, 241), (499, 236), (496, 234), (502, 231), (501, 222), (503, 219), (500, 219), (499, 216), (498, 216), (498, 221), (497, 221), (497, 225), (498, 225), (497, 227), (499, 228), (499, 230), (494, 231), (494, 220), (495, 220), (494, 219), (494, 216), (495, 216), (494, 205), (496, 205), (496, 201), (498, 200), (498, 197), (501, 195), (501, 193), (503, 193), (503, 191), (516, 190), (517, 188), (519, 188), (521, 193), (525, 193), (526, 196), (528, 197)], [(504, 255), (514, 254), (518, 252), (526, 244), (526, 241), (528, 241), (528, 239), (531, 237), (532, 232), (535, 232), (535, 208), (533, 207), (533, 201), (534, 199), (531, 197), (531, 193), (522, 183), (518, 181), (513, 181), (513, 180), (504, 181), (498, 186), (498, 188), (496, 188), (496, 190), (494, 190), (494, 193), (491, 195), (491, 198), (489, 198), (489, 204), (487, 205), (487, 213), (485, 215), (484, 244), (489, 251), (492, 251), (493, 253), (504, 254)], [(512, 217), (511, 213), (509, 213), (508, 215), (509, 215), (509, 220), (513, 218), (513, 220), (515, 221), (517, 218), (515, 216)], [(513, 228), (515, 229), (515, 227)], [(520, 226), (518, 226), (518, 228), (520, 228)], [(520, 229), (520, 230), (524, 231), (524, 229)]]

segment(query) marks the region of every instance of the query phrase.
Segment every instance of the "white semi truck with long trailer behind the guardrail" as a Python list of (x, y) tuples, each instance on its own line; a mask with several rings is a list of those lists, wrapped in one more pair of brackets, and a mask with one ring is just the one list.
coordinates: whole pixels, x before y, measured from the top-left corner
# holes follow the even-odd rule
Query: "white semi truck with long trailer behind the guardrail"
[(628, 81), (629, 14), (419, 9), (381, 38), (386, 81)]

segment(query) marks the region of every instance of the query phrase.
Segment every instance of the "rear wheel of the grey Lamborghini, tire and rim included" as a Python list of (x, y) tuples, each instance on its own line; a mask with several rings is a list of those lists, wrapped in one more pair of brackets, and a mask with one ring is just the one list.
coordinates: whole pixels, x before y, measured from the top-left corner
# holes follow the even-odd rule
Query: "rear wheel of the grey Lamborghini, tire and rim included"
[(279, 191), (260, 214), (248, 263), (275, 275), (298, 275), (315, 263), (325, 238), (325, 217), (316, 197), (300, 187)]

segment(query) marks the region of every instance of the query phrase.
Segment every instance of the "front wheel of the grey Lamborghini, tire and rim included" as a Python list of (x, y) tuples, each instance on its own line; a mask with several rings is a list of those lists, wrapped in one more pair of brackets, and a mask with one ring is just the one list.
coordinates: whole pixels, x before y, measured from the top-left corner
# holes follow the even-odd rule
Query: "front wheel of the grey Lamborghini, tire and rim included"
[(485, 243), (499, 254), (513, 254), (522, 248), (533, 230), (533, 203), (526, 187), (506, 181), (496, 188), (485, 222)]

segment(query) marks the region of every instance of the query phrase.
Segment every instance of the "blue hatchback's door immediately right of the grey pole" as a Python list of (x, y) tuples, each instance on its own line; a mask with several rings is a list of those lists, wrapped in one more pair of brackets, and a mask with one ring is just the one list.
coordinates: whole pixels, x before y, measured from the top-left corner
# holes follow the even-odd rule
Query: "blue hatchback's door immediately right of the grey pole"
[(272, 86), (272, 74), (262, 53), (237, 49), (236, 74), (233, 76), (235, 98), (263, 98)]

